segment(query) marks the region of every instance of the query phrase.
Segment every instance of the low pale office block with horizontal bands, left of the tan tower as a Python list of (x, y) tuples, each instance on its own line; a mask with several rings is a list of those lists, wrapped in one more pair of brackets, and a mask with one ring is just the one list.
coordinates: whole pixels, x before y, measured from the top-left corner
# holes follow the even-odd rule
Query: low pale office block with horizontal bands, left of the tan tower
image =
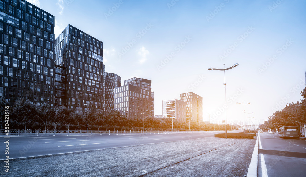
[(186, 102), (177, 99), (162, 101), (162, 117), (186, 122)]

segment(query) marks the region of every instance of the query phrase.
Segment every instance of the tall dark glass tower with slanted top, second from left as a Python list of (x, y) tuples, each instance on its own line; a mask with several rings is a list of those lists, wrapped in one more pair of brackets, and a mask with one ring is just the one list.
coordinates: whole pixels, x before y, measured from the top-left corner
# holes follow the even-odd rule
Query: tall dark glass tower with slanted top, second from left
[(103, 110), (106, 113), (103, 42), (68, 25), (55, 40), (55, 66), (64, 69), (62, 76), (65, 79), (65, 83), (55, 79), (59, 95), (63, 92), (58, 85), (65, 84), (64, 101), (63, 97), (60, 101), (57, 96), (57, 105), (64, 102), (74, 110), (76, 107), (84, 109), (90, 102), (89, 111)]

